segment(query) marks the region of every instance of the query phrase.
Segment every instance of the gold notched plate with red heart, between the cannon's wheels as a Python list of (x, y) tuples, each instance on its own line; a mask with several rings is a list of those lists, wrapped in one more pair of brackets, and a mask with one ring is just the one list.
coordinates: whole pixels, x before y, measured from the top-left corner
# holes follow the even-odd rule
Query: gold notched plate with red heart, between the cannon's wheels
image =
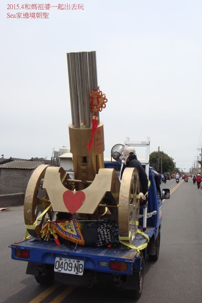
[(61, 167), (48, 167), (45, 173), (43, 187), (48, 192), (54, 211), (94, 214), (107, 193), (111, 195), (111, 203), (118, 205), (120, 181), (114, 169), (100, 168), (94, 181), (80, 191), (65, 188), (61, 182), (61, 176), (64, 174), (65, 171)]

